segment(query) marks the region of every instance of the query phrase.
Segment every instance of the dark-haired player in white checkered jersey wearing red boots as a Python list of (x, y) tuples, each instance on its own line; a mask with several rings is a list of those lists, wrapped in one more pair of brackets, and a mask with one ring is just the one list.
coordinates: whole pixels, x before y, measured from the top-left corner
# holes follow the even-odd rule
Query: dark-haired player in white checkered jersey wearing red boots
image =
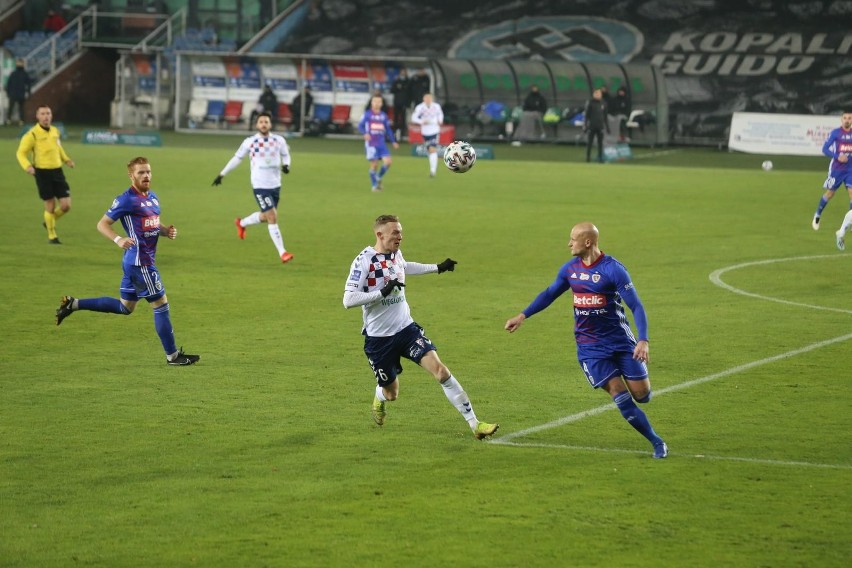
[(246, 227), (266, 223), (269, 237), (278, 250), (281, 262), (289, 262), (293, 259), (293, 254), (285, 248), (284, 237), (278, 227), (278, 200), (281, 197), (281, 174), (290, 173), (290, 148), (283, 136), (270, 132), (272, 130), (270, 113), (260, 113), (257, 116), (256, 126), (257, 132), (243, 140), (237, 153), (213, 180), (213, 185), (221, 184), (222, 178), (239, 166), (243, 158), (250, 157), (251, 186), (260, 211), (255, 211), (242, 219), (237, 217), (234, 221), (237, 226), (237, 236), (245, 239)]

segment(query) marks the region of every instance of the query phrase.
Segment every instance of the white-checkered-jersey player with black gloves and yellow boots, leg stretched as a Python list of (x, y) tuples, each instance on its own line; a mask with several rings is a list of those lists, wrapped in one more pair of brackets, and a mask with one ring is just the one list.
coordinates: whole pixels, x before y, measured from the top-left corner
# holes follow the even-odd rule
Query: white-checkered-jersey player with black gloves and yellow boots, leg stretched
[(452, 271), (457, 264), (448, 258), (440, 264), (406, 262), (399, 250), (402, 225), (396, 215), (382, 215), (373, 225), (376, 244), (367, 247), (352, 262), (343, 292), (343, 306), (361, 306), (364, 326), (364, 353), (376, 375), (373, 420), (385, 423), (386, 402), (399, 396), (401, 358), (414, 361), (441, 384), (444, 395), (470, 425), (473, 436), (491, 436), (497, 424), (480, 422), (464, 389), (438, 357), (437, 347), (423, 328), (411, 318), (405, 299), (405, 275), (438, 274)]

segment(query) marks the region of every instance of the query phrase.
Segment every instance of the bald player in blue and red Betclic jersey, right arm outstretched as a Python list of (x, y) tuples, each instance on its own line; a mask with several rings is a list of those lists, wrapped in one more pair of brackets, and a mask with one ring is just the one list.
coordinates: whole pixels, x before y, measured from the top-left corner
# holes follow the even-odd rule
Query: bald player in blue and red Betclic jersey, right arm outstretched
[[(559, 269), (553, 284), (506, 322), (505, 329), (510, 333), (516, 331), (525, 319), (570, 290), (574, 299), (577, 358), (586, 379), (592, 387), (609, 393), (621, 415), (651, 442), (654, 457), (664, 458), (668, 447), (636, 406), (636, 402), (651, 400), (645, 308), (624, 266), (598, 248), (598, 237), (597, 227), (589, 222), (571, 229), (568, 244), (574, 258)], [(638, 340), (630, 329), (622, 300), (636, 319)]]

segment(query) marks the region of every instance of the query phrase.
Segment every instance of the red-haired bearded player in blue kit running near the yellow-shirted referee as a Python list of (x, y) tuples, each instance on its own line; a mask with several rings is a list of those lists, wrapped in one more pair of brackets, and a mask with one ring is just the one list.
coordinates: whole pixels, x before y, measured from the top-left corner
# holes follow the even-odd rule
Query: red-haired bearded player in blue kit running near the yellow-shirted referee
[[(134, 158), (127, 164), (127, 172), (130, 188), (113, 200), (106, 214), (98, 221), (98, 231), (124, 251), (124, 277), (119, 287), (121, 299), (63, 296), (56, 310), (56, 325), (77, 310), (130, 315), (136, 308), (136, 302), (145, 299), (154, 311), (154, 328), (166, 352), (166, 362), (169, 365), (192, 365), (201, 357), (188, 355), (175, 344), (166, 288), (154, 262), (160, 233), (164, 232), (174, 240), (177, 238), (177, 229), (169, 225), (165, 231), (161, 231), (160, 200), (151, 191), (151, 165), (148, 159)], [(121, 221), (126, 237), (113, 230), (112, 225), (116, 221)]]

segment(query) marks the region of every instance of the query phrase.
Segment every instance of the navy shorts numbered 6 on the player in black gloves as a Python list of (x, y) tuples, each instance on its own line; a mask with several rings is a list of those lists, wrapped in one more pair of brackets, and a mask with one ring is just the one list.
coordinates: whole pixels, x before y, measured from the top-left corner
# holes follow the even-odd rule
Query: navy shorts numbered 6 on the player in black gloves
[(416, 323), (390, 337), (368, 335), (364, 338), (364, 353), (376, 375), (376, 382), (382, 387), (393, 383), (402, 373), (402, 357), (419, 365), (424, 355), (437, 350)]

